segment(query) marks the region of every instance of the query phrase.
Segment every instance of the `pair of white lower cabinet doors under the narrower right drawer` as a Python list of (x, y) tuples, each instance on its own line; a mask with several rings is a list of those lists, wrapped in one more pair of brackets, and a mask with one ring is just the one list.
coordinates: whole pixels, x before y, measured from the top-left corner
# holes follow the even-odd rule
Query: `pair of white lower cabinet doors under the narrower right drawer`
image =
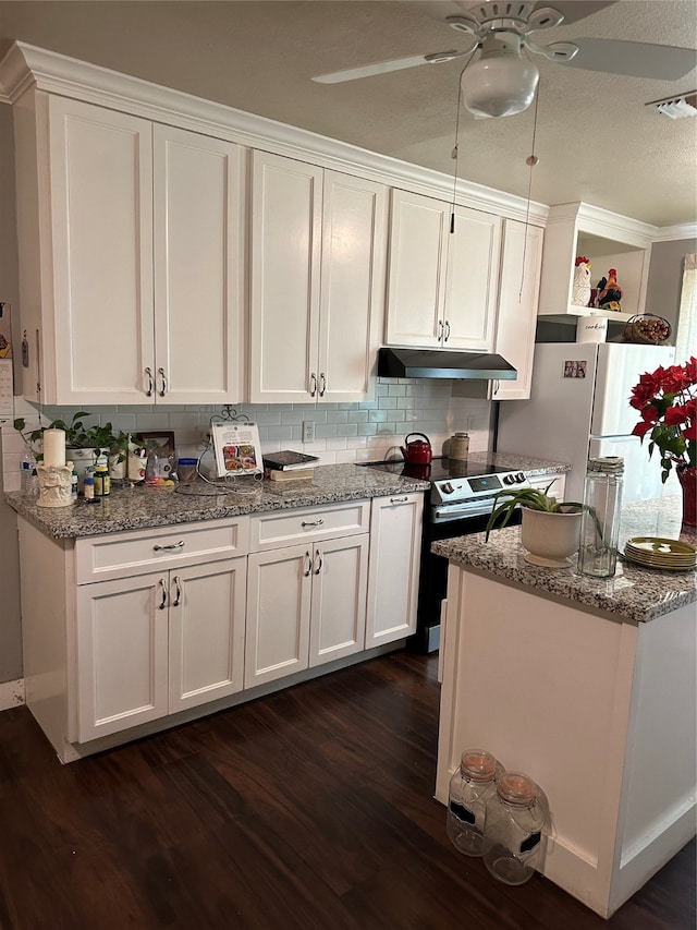
[(245, 688), (360, 652), (368, 534), (249, 555)]

